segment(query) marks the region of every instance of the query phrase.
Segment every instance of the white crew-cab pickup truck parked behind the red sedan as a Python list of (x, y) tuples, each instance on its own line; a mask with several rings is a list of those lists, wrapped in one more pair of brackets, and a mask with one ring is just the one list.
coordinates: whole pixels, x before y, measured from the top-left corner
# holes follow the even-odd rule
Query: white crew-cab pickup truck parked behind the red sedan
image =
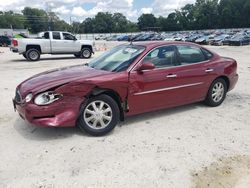
[(74, 54), (77, 58), (90, 58), (94, 53), (94, 41), (77, 40), (68, 32), (46, 31), (40, 38), (13, 39), (10, 49), (29, 61), (39, 60), (41, 54)]

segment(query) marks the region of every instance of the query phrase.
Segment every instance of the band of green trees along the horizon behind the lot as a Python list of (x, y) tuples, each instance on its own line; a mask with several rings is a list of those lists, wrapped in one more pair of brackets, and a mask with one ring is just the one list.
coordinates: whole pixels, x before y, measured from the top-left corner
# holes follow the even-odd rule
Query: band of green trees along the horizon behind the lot
[[(138, 22), (121, 13), (99, 12), (94, 18), (71, 24), (54, 12), (25, 7), (22, 14), (0, 11), (0, 28), (27, 28), (33, 33), (45, 30), (73, 33), (122, 33), (158, 27), (161, 31), (250, 27), (250, 0), (196, 0), (167, 17), (142, 14)], [(158, 30), (158, 29), (157, 29)]]

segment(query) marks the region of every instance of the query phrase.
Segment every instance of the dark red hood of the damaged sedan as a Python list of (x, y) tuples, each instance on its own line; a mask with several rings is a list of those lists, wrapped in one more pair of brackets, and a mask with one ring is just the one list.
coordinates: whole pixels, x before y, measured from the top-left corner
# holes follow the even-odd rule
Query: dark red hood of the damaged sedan
[(37, 74), (22, 82), (18, 88), (21, 94), (25, 96), (29, 92), (42, 92), (72, 81), (84, 81), (107, 74), (112, 73), (83, 65), (70, 66)]

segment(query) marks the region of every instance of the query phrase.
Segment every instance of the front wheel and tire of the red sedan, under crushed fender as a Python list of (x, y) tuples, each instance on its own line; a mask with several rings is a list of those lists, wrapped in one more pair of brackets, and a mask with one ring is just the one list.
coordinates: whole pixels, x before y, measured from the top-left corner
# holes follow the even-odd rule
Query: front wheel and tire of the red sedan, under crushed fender
[(115, 128), (119, 117), (117, 102), (110, 96), (102, 94), (88, 99), (82, 105), (77, 126), (92, 136), (103, 136)]

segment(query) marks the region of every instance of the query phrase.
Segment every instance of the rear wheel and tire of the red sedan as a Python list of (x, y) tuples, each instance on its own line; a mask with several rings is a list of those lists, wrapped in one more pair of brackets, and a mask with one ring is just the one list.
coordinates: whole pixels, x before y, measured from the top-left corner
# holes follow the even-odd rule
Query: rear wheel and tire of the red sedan
[(218, 78), (214, 80), (209, 88), (205, 103), (211, 107), (221, 105), (226, 98), (227, 89), (227, 84), (224, 79)]

